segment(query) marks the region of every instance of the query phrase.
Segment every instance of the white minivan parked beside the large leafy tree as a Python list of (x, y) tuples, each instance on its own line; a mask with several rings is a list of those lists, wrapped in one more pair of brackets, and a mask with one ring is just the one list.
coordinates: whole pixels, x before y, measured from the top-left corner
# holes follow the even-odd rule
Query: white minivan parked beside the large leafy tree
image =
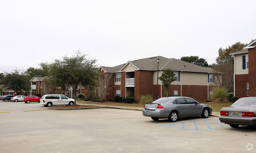
[(68, 98), (64, 95), (43, 95), (40, 99), (40, 104), (45, 107), (51, 107), (52, 105), (74, 105), (74, 99)]

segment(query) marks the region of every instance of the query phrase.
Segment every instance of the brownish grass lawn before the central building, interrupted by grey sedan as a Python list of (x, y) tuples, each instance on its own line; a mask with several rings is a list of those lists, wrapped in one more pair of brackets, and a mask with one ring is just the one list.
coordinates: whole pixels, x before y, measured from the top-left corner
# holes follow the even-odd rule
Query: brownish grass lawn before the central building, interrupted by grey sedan
[[(81, 100), (82, 101), (82, 100)], [(126, 106), (126, 107), (140, 107), (143, 108), (144, 104), (126, 104), (126, 103), (121, 103), (121, 102), (78, 102), (81, 104), (95, 104), (95, 105), (108, 105), (108, 106)], [(229, 103), (212, 103), (212, 102), (204, 102), (201, 104), (208, 104), (211, 105), (212, 111), (213, 112), (220, 112), (222, 107), (227, 107), (232, 105), (232, 102)]]

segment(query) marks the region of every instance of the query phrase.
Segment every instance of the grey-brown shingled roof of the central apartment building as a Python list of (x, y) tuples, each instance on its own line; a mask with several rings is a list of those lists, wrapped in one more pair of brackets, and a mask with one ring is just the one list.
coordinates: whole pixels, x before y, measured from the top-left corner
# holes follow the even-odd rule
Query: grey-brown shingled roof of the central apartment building
[[(159, 69), (173, 69), (176, 71), (192, 71), (192, 72), (204, 72), (204, 73), (214, 73), (215, 71), (210, 67), (197, 66), (182, 60), (177, 60), (175, 58), (166, 58), (162, 56), (155, 56), (149, 58), (138, 59), (134, 61), (128, 61), (126, 64), (131, 63), (140, 70), (155, 71), (157, 70), (156, 59), (160, 59)], [(122, 70), (124, 65), (119, 65), (115, 67), (102, 67), (107, 72), (118, 72)]]

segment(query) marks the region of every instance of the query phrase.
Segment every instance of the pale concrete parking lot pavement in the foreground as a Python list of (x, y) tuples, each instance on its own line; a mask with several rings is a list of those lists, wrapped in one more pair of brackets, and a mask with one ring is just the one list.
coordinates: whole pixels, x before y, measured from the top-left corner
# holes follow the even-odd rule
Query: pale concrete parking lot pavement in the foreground
[(0, 112), (10, 112), (0, 113), (0, 152), (244, 153), (248, 148), (250, 152), (256, 150), (255, 127), (232, 128), (226, 124), (219, 127), (218, 117), (182, 118), (171, 123), (167, 119), (151, 120), (141, 111), (123, 109), (25, 112), (45, 108), (38, 103), (0, 102)]

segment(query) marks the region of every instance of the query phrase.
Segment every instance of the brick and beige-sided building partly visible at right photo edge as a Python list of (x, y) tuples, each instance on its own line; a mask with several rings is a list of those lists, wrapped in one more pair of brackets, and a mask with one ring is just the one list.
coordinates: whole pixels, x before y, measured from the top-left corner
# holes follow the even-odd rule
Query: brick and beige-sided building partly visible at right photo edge
[(234, 96), (256, 97), (256, 40), (234, 56)]

